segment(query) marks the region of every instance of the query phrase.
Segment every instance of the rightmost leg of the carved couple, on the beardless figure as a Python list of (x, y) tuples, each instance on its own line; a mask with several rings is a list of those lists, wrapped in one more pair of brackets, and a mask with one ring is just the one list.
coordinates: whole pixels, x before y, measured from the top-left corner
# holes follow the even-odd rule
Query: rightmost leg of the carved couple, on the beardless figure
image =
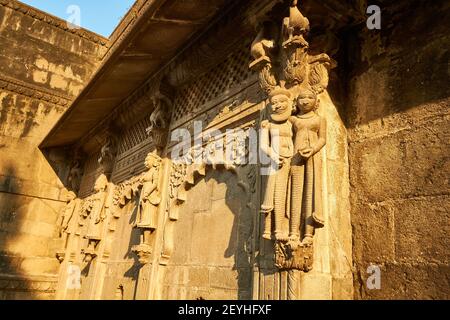
[(313, 211), (314, 168), (313, 160), (309, 158), (305, 165), (305, 236), (302, 243), (310, 245), (313, 242), (314, 221)]

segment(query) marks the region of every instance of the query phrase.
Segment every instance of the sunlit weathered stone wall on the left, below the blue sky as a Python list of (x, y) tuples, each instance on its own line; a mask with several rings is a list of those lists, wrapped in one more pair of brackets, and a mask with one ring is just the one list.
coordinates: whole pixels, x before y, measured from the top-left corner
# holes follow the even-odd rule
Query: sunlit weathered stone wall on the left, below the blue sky
[(63, 186), (38, 145), (96, 70), (107, 41), (0, 1), (0, 299), (54, 296)]

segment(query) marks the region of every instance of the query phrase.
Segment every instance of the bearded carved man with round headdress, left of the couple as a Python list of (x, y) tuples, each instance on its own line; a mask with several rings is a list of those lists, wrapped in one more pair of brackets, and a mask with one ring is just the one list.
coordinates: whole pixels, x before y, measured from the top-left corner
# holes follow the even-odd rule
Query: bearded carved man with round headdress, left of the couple
[[(261, 212), (266, 215), (263, 238), (271, 239), (272, 222), (276, 240), (287, 241), (288, 232), (282, 221), (286, 215), (286, 194), (291, 157), (294, 153), (291, 95), (288, 90), (276, 88), (270, 93), (269, 120), (261, 123), (261, 150), (271, 159)], [(274, 220), (271, 214), (274, 212)]]

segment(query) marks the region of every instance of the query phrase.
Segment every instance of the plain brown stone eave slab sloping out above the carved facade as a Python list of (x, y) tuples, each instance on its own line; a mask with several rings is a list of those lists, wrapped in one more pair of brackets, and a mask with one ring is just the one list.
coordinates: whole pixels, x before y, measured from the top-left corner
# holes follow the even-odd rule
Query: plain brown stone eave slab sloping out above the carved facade
[(71, 146), (85, 138), (232, 0), (138, 0), (114, 31), (89, 83), (40, 144)]

